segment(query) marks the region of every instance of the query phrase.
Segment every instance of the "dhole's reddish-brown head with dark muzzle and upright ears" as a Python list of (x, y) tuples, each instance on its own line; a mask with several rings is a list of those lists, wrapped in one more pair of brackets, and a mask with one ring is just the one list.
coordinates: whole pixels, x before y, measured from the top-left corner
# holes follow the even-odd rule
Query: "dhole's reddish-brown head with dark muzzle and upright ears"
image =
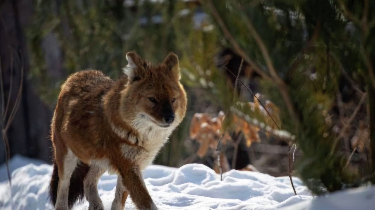
[(127, 87), (121, 92), (120, 113), (135, 128), (176, 127), (186, 113), (186, 93), (180, 83), (178, 57), (170, 53), (152, 65), (135, 52), (126, 54)]

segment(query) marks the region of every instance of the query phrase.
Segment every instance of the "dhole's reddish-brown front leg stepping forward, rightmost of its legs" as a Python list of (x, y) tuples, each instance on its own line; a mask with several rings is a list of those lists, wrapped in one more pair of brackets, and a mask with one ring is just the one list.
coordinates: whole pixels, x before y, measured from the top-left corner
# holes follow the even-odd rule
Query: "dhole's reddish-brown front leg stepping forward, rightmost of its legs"
[(150, 194), (148, 194), (139, 167), (136, 165), (121, 167), (119, 168), (119, 172), (122, 183), (132, 197), (135, 206), (139, 210), (157, 210)]

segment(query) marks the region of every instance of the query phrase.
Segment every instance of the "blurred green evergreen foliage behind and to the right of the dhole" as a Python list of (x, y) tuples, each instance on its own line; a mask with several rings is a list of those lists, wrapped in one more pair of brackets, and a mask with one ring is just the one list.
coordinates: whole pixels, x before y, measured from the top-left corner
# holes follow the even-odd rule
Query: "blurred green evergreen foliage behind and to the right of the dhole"
[[(36, 16), (27, 38), (32, 55), (30, 76), (41, 84), (45, 101), (55, 100), (64, 80), (51, 84), (46, 74), (40, 42), (50, 33), (60, 43), (65, 75), (96, 68), (118, 77), (130, 50), (151, 61), (175, 51), (190, 107), (158, 161), (176, 166), (191, 152), (181, 148), (192, 114), (204, 111), (196, 106), (198, 102), (209, 101), (214, 110), (229, 114), (230, 107), (236, 106), (267, 123), (246, 111), (246, 106), (236, 105), (248, 99), (234, 98), (233, 84), (224, 74), (234, 70), (217, 67), (220, 50), (230, 48), (257, 73), (260, 92), (280, 109), (278, 127), (295, 136), (295, 142), (289, 144), (297, 143), (303, 152), (297, 171), (309, 188), (321, 194), (358, 185), (360, 177), (345, 168), (348, 157), (341, 152), (344, 143), (335, 126), (342, 129), (345, 124), (339, 120), (345, 115), (340, 101), (357, 105), (362, 97), (374, 97), (370, 93), (375, 89), (375, 1), (58, 2), (35, 4)], [(369, 103), (365, 112), (373, 114), (375, 105)], [(362, 119), (374, 126), (374, 118)], [(374, 148), (374, 137), (372, 140)], [(364, 173), (374, 174), (374, 168)]]

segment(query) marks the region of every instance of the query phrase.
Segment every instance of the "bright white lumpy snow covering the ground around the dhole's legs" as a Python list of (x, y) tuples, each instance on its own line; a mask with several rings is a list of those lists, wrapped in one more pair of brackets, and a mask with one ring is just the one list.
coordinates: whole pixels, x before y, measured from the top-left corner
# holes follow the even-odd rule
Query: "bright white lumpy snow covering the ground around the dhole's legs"
[[(12, 199), (7, 181), (0, 183), (0, 209), (51, 210), (48, 185), (52, 166), (27, 164), (27, 159), (16, 157), (11, 167), (20, 167), (12, 173)], [(0, 167), (1, 178), (4, 166)], [(4, 171), (5, 172), (5, 171)], [(273, 177), (258, 172), (231, 170), (223, 180), (202, 164), (187, 164), (178, 169), (166, 166), (148, 166), (143, 177), (154, 203), (160, 210), (367, 210), (375, 205), (375, 187), (338, 192), (314, 198), (297, 177), (293, 177), (297, 196), (289, 177)], [(106, 209), (114, 198), (117, 176), (105, 173), (98, 191)], [(13, 202), (12, 202), (13, 201)], [(85, 200), (74, 210), (88, 208)], [(129, 197), (125, 209), (136, 209)], [(355, 206), (355, 208), (354, 208)]]

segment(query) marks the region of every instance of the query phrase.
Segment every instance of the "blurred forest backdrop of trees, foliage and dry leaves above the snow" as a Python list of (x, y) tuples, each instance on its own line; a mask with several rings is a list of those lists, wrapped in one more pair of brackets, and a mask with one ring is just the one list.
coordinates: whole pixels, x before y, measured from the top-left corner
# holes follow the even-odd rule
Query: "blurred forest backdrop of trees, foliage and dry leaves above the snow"
[(154, 63), (175, 52), (187, 114), (154, 164), (300, 176), (317, 194), (374, 183), (374, 11), (371, 0), (1, 0), (0, 163), (52, 163), (69, 74), (116, 79), (131, 50)]

